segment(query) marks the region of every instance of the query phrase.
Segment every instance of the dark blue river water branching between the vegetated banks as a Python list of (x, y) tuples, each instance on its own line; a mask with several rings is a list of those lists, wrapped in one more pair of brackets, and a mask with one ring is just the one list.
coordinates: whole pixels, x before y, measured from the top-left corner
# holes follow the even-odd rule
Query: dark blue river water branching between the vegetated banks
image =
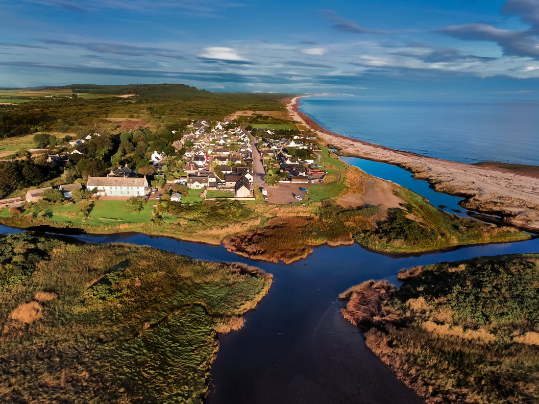
[[(387, 171), (383, 174), (383, 178), (391, 177)], [(412, 182), (423, 183), (404, 174)], [(398, 182), (396, 177), (386, 179)], [(431, 201), (438, 196), (445, 198), (428, 186), (423, 192)], [(444, 200), (443, 205), (453, 206)], [(0, 233), (13, 232), (19, 231), (0, 226)], [(315, 247), (306, 259), (287, 265), (252, 261), (222, 246), (143, 234), (77, 238), (148, 245), (201, 260), (244, 262), (273, 274), (271, 290), (255, 310), (245, 315), (245, 326), (219, 335), (219, 353), (212, 366), (213, 382), (206, 404), (419, 404), (422, 401), (367, 349), (362, 333), (340, 316), (338, 294), (369, 279), (398, 283), (398, 271), (411, 266), (481, 255), (539, 252), (539, 239), (409, 256), (378, 254), (355, 244)]]

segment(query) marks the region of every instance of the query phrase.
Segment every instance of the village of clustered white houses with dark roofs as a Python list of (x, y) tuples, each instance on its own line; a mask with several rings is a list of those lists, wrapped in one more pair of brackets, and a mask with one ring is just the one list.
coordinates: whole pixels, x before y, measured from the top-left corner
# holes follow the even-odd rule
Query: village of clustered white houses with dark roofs
[[(73, 191), (84, 189), (82, 183), (85, 182), (91, 196), (101, 199), (164, 198), (181, 202), (182, 195), (187, 196), (190, 190), (200, 190), (202, 199), (254, 200), (255, 193), (260, 193), (272, 203), (291, 203), (302, 199), (298, 190), (307, 189), (294, 187), (288, 190), (286, 184), (323, 182), (325, 172), (317, 164), (320, 149), (314, 135), (279, 137), (272, 129), (246, 128), (240, 128), (231, 120), (217, 121), (213, 125), (206, 120), (193, 120), (182, 136), (171, 143), (174, 154), (167, 155), (163, 150), (147, 151), (150, 166), (138, 172), (127, 164), (117, 166), (106, 176), (88, 176), (85, 181), (59, 185), (58, 190), (65, 198), (71, 198)], [(175, 131), (172, 133), (177, 135)], [(50, 155), (47, 160), (52, 165), (65, 166), (72, 156), (84, 154), (81, 150), (87, 142), (99, 140), (100, 136), (93, 133), (71, 140), (72, 150)], [(282, 186), (281, 192), (268, 192), (269, 186), (277, 191), (279, 186), (275, 185)], [(4, 199), (0, 204), (17, 207), (36, 203), (43, 198), (44, 192), (53, 188), (31, 189), (24, 198)]]

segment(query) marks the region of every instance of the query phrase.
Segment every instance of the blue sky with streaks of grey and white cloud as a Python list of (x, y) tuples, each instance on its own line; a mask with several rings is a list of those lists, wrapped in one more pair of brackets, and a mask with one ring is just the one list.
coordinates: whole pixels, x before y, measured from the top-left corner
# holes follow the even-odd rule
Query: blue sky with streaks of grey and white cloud
[(0, 0), (0, 87), (539, 98), (539, 0)]

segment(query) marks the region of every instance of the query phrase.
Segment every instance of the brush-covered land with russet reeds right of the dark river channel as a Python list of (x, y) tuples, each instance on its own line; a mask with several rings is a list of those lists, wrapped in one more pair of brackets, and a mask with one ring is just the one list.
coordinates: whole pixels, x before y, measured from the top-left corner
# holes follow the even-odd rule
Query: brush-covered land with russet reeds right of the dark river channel
[(539, 401), (539, 254), (413, 267), (341, 294), (343, 316), (427, 403)]

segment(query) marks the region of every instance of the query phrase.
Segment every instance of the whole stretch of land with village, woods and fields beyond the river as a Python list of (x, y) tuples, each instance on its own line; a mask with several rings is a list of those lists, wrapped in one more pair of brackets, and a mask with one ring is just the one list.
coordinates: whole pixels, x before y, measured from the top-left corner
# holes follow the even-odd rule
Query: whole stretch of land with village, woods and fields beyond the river
[(166, 235), (274, 262), (323, 243), (410, 253), (530, 238), (344, 164), (294, 121), (284, 94), (43, 91), (47, 99), (0, 108), (5, 225)]

